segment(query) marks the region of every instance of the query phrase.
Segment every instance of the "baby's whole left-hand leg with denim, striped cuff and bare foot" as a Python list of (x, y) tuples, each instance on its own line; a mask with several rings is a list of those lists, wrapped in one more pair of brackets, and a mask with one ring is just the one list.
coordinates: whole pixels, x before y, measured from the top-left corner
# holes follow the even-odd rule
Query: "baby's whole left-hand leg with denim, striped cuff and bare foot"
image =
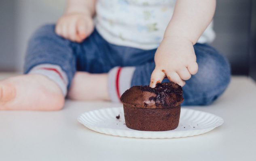
[(0, 81), (0, 109), (61, 109), (75, 60), (70, 41), (57, 36), (54, 25), (41, 27), (28, 45), (26, 74)]

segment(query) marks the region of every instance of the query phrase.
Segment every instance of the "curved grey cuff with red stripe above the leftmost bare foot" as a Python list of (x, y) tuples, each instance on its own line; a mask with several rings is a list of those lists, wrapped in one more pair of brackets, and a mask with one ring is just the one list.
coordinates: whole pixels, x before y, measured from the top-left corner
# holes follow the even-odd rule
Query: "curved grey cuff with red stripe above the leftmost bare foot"
[(47, 76), (59, 86), (63, 96), (67, 95), (68, 77), (60, 66), (54, 64), (40, 64), (32, 68), (28, 74)]

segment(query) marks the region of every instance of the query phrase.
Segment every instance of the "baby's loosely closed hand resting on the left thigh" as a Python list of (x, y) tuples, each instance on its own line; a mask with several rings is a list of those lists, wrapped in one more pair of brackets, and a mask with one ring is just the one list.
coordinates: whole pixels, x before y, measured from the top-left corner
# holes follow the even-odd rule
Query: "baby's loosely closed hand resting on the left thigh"
[(80, 43), (93, 32), (93, 28), (91, 15), (77, 12), (63, 15), (57, 22), (55, 32), (61, 37)]

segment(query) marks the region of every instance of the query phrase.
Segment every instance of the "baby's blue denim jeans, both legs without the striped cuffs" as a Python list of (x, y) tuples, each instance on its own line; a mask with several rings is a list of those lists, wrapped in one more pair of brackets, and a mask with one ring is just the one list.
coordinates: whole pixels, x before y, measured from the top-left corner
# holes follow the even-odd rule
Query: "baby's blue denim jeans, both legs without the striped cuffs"
[[(55, 25), (45, 25), (30, 39), (25, 73), (39, 64), (59, 65), (68, 76), (69, 88), (76, 71), (106, 73), (116, 66), (135, 66), (131, 86), (149, 84), (157, 49), (113, 45), (104, 40), (96, 29), (82, 43), (74, 43), (56, 35), (54, 29)], [(183, 105), (208, 105), (228, 86), (230, 66), (226, 58), (207, 44), (197, 43), (194, 49), (199, 70), (182, 88)]]

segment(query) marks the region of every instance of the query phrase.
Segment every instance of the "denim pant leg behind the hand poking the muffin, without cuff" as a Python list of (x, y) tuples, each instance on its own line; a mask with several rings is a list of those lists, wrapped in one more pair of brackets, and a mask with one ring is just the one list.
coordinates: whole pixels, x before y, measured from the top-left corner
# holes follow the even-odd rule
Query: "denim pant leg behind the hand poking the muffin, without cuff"
[[(195, 44), (195, 54), (199, 70), (184, 85), (183, 105), (208, 105), (217, 99), (226, 89), (230, 81), (230, 66), (226, 58), (213, 47), (206, 44)], [(150, 51), (152, 53), (152, 51)], [(150, 54), (148, 54), (151, 57)], [(136, 66), (131, 86), (148, 85), (155, 64), (152, 60)], [(165, 79), (163, 82), (168, 82)]]

